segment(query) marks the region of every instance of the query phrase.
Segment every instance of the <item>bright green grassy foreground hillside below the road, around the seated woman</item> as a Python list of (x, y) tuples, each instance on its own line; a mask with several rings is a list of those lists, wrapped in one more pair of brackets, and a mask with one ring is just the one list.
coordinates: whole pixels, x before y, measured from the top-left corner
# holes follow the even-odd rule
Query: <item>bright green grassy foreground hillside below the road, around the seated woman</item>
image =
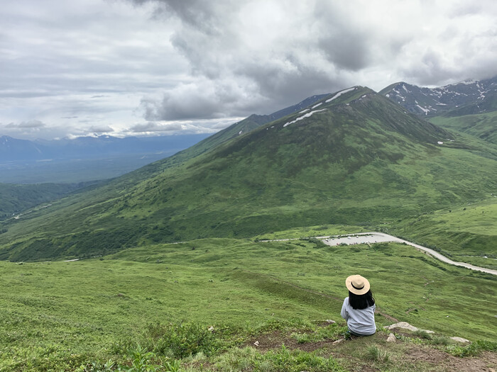
[[(349, 227), (302, 232), (316, 228), (344, 232)], [(443, 336), (471, 341), (497, 337), (494, 276), (447, 266), (403, 244), (327, 247), (303, 240), (201, 239), (126, 249), (87, 261), (4, 261), (0, 269), (2, 371), (76, 370), (109, 359), (131, 367), (137, 352), (148, 351), (154, 355), (151, 363), (166, 366), (180, 360), (182, 371), (187, 366), (192, 371), (229, 371), (223, 358), (243, 360), (239, 348), (253, 346), (256, 339), (263, 343), (267, 332), (285, 334), (285, 344), (293, 342), (292, 347), (303, 350), (309, 349), (297, 340), (329, 340), (324, 354), (299, 354), (305, 362), (290, 358), (284, 371), (302, 371), (299, 363), (312, 371), (372, 366), (376, 361), (349, 350), (354, 344), (331, 346), (346, 329), (339, 316), (347, 295), (344, 280), (356, 273), (369, 278), (378, 305), (378, 335), (367, 339), (369, 346), (386, 350), (381, 327), (395, 320), (432, 329), (439, 341)], [(337, 325), (317, 327), (328, 319)], [(210, 326), (214, 333), (207, 331)], [(461, 350), (453, 344), (442, 348), (444, 353)], [(400, 362), (404, 349), (388, 350), (393, 364), (382, 368), (410, 371), (417, 363)], [(199, 351), (199, 363), (187, 358)], [(320, 355), (337, 369), (308, 369)]]

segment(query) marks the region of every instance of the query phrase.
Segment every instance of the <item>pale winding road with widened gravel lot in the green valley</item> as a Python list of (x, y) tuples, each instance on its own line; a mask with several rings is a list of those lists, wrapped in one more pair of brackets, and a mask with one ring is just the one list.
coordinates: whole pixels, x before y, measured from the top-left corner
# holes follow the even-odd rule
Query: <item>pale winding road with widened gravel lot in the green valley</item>
[[(474, 266), (471, 264), (466, 264), (466, 262), (456, 262), (452, 261), (452, 259), (448, 259), (443, 254), (439, 254), (433, 249), (423, 247), (422, 245), (408, 242), (407, 240), (400, 239), (398, 237), (393, 237), (392, 235), (384, 234), (383, 232), (359, 232), (356, 234), (349, 235), (334, 235), (328, 237), (314, 237), (315, 239), (321, 239), (324, 244), (329, 246), (335, 246), (342, 243), (347, 245), (349, 244), (368, 244), (368, 243), (379, 243), (379, 242), (398, 242), (405, 243), (416, 249), (420, 249), (424, 252), (427, 252), (432, 257), (439, 259), (440, 261), (446, 262), (447, 264), (451, 264), (454, 266), (465, 267), (466, 269), (483, 271), (484, 273), (497, 275), (497, 270), (486, 269), (485, 267)], [(283, 242), (287, 240), (297, 240), (297, 239), (275, 239), (275, 240), (260, 240), (260, 242)]]

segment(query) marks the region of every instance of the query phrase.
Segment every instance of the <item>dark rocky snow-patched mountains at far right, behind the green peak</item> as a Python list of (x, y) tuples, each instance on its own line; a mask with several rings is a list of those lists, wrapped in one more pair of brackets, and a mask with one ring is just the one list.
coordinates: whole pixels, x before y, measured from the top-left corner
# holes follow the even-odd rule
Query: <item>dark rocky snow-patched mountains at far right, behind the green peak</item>
[(379, 94), (422, 116), (486, 113), (497, 109), (497, 77), (481, 81), (465, 80), (437, 88), (401, 81), (387, 86)]

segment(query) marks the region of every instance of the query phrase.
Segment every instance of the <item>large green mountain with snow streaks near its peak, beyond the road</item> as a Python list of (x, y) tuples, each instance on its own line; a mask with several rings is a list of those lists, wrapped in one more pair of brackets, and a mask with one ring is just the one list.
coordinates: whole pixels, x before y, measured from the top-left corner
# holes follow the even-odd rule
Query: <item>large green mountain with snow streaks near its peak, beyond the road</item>
[(361, 86), (186, 156), (193, 150), (4, 224), (0, 259), (88, 257), (319, 224), (378, 227), (487, 198), (497, 186), (496, 147)]

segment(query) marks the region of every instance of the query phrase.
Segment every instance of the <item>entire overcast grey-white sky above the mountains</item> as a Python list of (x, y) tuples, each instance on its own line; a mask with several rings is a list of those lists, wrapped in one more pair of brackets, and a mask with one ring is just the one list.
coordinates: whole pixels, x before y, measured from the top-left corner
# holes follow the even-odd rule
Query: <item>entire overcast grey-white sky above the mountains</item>
[(349, 86), (496, 74), (495, 0), (1, 1), (18, 138), (211, 133)]

